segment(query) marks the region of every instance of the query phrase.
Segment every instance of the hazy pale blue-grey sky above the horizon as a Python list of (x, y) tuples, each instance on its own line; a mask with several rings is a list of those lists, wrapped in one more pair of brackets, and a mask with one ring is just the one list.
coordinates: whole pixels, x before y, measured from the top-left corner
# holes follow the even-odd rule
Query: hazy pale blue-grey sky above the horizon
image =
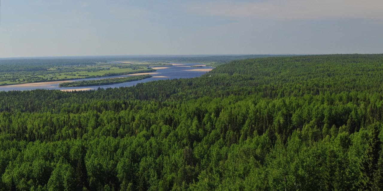
[(0, 58), (383, 53), (382, 0), (2, 0)]

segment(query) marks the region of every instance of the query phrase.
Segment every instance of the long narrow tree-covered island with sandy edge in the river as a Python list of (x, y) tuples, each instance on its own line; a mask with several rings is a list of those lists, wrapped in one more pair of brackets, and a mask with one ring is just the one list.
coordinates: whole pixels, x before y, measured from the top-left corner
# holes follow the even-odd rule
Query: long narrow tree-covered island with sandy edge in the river
[(61, 83), (59, 87), (103, 86), (108, 84), (132, 82), (132, 81), (146, 79), (149, 77), (152, 77), (152, 76), (149, 74), (145, 74), (140, 76), (116, 77), (116, 78), (106, 78), (106, 79), (99, 79), (99, 80), (88, 80), (88, 81), (77, 81), (77, 82), (64, 82), (64, 83)]

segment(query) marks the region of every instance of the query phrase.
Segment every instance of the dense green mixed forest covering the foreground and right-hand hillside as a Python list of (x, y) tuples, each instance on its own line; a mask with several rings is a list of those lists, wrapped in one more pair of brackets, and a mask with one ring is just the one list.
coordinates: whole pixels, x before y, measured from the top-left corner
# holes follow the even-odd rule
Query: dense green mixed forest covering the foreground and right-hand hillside
[(0, 92), (0, 190), (382, 190), (383, 54)]

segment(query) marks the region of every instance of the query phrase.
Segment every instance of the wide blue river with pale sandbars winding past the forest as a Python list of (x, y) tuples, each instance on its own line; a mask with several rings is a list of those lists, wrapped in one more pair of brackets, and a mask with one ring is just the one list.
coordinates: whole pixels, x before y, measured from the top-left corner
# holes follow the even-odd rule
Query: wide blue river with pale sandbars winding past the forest
[[(134, 86), (138, 83), (155, 81), (155, 80), (166, 80), (166, 79), (179, 79), (179, 78), (190, 78), (190, 77), (198, 77), (208, 70), (213, 69), (212, 67), (203, 66), (201, 68), (191, 67), (194, 65), (198, 65), (198, 63), (177, 63), (172, 66), (158, 66), (158, 67), (166, 67), (164, 69), (157, 69), (155, 72), (149, 72), (147, 74), (151, 74), (151, 78), (133, 81), (133, 82), (124, 82), (120, 84), (111, 84), (105, 86), (84, 86), (84, 87), (59, 87), (61, 82), (40, 82), (40, 83), (30, 83), (30, 84), (15, 84), (8, 86), (0, 86), (0, 91), (13, 91), (13, 90), (33, 90), (33, 89), (57, 89), (62, 91), (72, 91), (72, 90), (91, 90), (100, 88), (108, 88), (108, 87), (126, 87), (126, 86)], [(156, 67), (152, 67), (156, 68)], [(201, 70), (201, 71), (198, 71)], [(122, 75), (122, 76), (108, 76), (108, 77), (95, 77), (88, 79), (77, 79), (72, 81), (88, 81), (88, 80), (97, 80), (97, 79), (105, 79), (105, 78), (115, 78), (115, 77), (127, 77), (131, 75)]]

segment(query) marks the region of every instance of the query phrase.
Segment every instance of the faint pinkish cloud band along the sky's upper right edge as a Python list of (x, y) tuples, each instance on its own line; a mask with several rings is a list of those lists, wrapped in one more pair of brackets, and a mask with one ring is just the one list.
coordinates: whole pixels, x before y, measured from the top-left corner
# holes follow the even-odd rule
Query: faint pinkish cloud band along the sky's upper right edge
[(188, 3), (187, 6), (198, 14), (234, 18), (383, 19), (383, 0), (214, 1)]

